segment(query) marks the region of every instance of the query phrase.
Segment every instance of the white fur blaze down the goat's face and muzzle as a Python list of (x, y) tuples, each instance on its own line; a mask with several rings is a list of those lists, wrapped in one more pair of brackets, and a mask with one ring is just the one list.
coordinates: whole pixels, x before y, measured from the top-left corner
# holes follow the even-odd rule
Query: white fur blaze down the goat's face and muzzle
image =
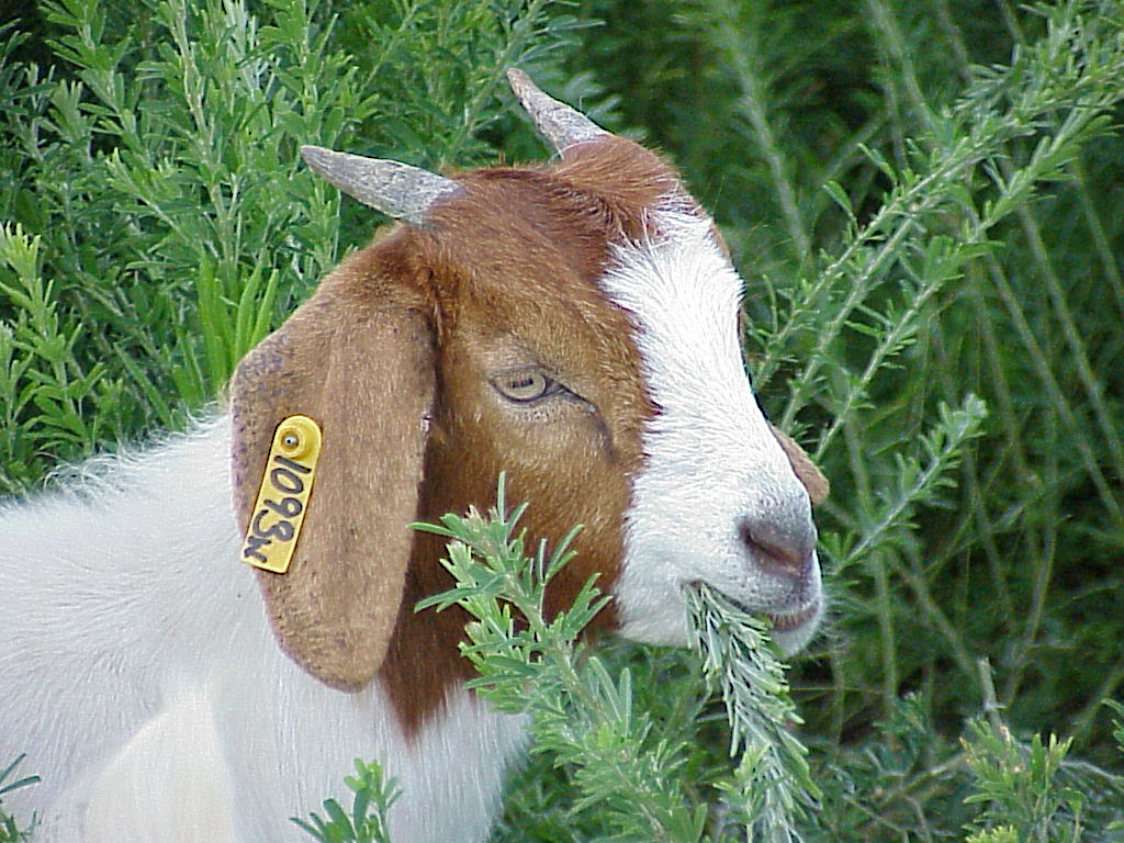
[(649, 389), (660, 413), (645, 430), (634, 480), (624, 571), (622, 634), (682, 645), (682, 587), (705, 581), (773, 615), (814, 611), (778, 643), (798, 650), (821, 605), (819, 568), (794, 578), (762, 564), (740, 541), (750, 517), (814, 534), (812, 505), (758, 407), (742, 363), (742, 280), (719, 251), (713, 224), (676, 200), (656, 232), (617, 250), (602, 288), (632, 311)]

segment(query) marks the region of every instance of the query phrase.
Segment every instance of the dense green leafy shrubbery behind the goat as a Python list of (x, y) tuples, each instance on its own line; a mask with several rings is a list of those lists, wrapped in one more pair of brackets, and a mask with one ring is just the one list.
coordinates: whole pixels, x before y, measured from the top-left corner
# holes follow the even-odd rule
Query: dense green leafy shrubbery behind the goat
[[(370, 236), (300, 144), (434, 169), (544, 157), (501, 81), (519, 64), (660, 147), (715, 211), (747, 281), (762, 406), (832, 480), (832, 617), (790, 673), (831, 785), (807, 834), (1001, 831), (1009, 814), (962, 801), (980, 779), (957, 738), (980, 713), (1019, 738), (1072, 736), (1084, 761), (1059, 776), (1087, 774), (1081, 833), (1121, 833), (1100, 705), (1124, 698), (1118, 3), (24, 0), (3, 15), (4, 491), (220, 400), (239, 355)], [(689, 708), (667, 692), (674, 654), (610, 658), (636, 671), (637, 705)], [(565, 791), (549, 768), (525, 772), (514, 817), (552, 816)], [(1058, 810), (1068, 834), (1073, 810)], [(502, 833), (552, 839), (542, 823)]]

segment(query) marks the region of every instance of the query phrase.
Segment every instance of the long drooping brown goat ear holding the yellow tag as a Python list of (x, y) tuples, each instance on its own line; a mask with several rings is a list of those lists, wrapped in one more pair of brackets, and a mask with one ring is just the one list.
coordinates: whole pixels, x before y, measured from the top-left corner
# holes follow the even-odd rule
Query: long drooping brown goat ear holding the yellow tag
[(277, 426), (301, 414), (323, 430), (316, 484), (289, 570), (257, 577), (282, 649), (312, 676), (346, 690), (374, 677), (398, 616), (435, 378), (427, 318), (392, 301), (393, 284), (380, 289), (357, 263), (336, 270), (246, 355), (230, 398), (235, 510), (243, 527)]

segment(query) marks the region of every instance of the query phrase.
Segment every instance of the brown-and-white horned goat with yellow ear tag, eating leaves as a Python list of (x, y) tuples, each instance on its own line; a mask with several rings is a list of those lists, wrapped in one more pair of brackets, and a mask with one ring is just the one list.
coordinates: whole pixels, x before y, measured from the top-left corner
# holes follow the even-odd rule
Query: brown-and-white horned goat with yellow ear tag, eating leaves
[[(658, 155), (509, 79), (555, 162), (305, 147), (401, 223), (250, 352), (229, 413), (0, 513), (0, 760), (43, 773), (6, 796), (42, 840), (279, 841), (355, 756), (399, 780), (392, 840), (486, 840), (525, 723), (464, 689), (463, 615), (415, 614), (451, 583), (408, 525), (488, 506), (501, 470), (532, 535), (584, 525), (551, 610), (597, 571), (598, 629), (683, 644), (706, 581), (789, 652), (813, 634), (826, 482), (758, 408), (713, 223)], [(310, 492), (275, 462), (294, 417), (323, 432)], [(266, 513), (263, 477), (297, 502)]]

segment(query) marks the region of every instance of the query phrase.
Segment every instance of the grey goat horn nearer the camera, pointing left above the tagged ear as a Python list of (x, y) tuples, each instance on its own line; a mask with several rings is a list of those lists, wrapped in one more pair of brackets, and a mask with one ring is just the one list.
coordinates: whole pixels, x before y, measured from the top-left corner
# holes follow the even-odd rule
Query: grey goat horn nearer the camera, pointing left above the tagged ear
[(397, 161), (333, 152), (323, 146), (301, 146), (300, 155), (314, 172), (347, 196), (406, 223), (424, 223), (434, 201), (463, 190), (452, 179)]

